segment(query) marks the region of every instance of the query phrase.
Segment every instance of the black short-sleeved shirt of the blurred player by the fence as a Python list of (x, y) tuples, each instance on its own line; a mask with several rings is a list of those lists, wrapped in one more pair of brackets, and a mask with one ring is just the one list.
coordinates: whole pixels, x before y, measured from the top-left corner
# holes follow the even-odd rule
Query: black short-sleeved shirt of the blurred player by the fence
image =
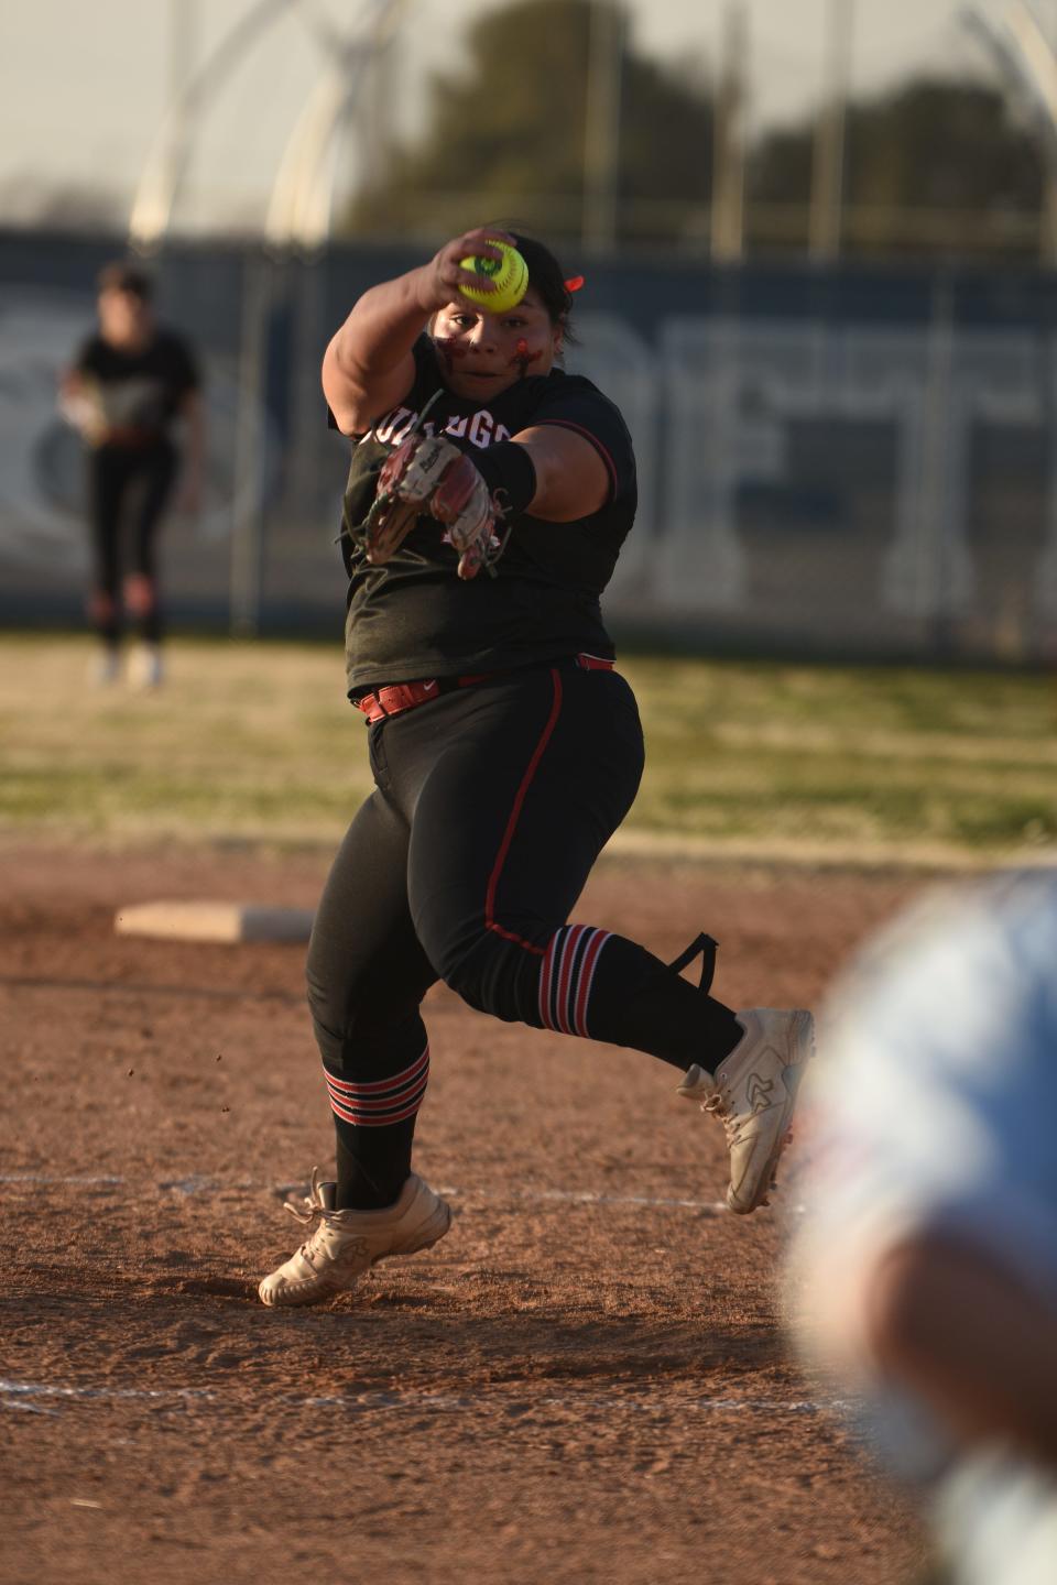
[(171, 330), (155, 330), (138, 352), (90, 336), (74, 368), (106, 426), (139, 442), (166, 434), (187, 393), (200, 385), (190, 347)]

